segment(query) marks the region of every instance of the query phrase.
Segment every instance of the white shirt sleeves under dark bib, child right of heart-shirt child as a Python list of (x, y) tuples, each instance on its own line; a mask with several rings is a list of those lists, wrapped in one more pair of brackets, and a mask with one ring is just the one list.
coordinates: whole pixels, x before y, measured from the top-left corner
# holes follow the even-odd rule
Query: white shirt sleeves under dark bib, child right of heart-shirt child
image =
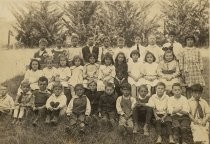
[[(72, 114), (72, 111), (73, 111), (73, 108), (74, 108), (74, 100), (75, 100), (75, 99), (80, 99), (80, 98), (82, 98), (82, 97), (86, 97), (86, 96), (84, 95), (84, 96), (78, 97), (77, 95), (75, 95), (75, 97), (73, 97), (73, 98), (71, 99), (71, 101), (69, 102), (69, 105), (68, 105), (68, 107), (67, 107), (67, 110), (66, 110), (67, 115)], [(76, 106), (75, 106), (75, 107), (76, 107)], [(89, 101), (89, 99), (86, 97), (85, 115), (90, 115), (90, 112), (91, 112), (90, 101)]]

